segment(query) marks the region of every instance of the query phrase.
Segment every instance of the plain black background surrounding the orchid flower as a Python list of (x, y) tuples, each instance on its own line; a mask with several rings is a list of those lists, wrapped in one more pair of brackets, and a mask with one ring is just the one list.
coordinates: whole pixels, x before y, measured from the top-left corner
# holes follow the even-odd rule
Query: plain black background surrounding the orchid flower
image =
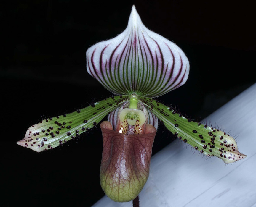
[[(199, 121), (255, 83), (255, 15), (245, 1), (12, 1), (0, 12), (0, 206), (91, 206), (104, 195), (98, 125), (42, 153), (15, 143), (42, 116), (111, 96), (87, 74), (85, 53), (126, 28), (132, 4), (146, 27), (190, 61), (185, 85), (159, 101)], [(172, 139), (160, 124), (153, 154)]]

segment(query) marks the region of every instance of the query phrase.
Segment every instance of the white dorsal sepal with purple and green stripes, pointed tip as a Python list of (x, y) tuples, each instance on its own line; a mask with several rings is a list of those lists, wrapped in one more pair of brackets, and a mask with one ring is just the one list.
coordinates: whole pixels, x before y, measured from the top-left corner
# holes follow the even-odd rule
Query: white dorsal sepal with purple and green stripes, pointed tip
[(183, 85), (189, 62), (183, 51), (148, 30), (132, 7), (127, 28), (87, 52), (87, 71), (115, 94), (161, 96)]

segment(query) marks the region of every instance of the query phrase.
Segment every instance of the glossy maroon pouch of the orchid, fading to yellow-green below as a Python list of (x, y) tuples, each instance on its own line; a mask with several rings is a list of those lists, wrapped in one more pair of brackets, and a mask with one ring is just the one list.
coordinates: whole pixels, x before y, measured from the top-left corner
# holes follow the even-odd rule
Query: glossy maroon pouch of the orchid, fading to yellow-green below
[(147, 124), (143, 135), (123, 135), (113, 131), (108, 121), (102, 122), (100, 128), (103, 134), (101, 187), (116, 202), (133, 200), (148, 179), (156, 129)]

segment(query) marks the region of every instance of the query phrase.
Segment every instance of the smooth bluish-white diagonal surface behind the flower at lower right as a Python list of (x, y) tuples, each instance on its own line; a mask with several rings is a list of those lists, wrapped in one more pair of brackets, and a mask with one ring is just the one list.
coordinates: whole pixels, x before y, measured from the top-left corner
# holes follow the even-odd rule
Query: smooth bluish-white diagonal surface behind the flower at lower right
[[(238, 135), (239, 151), (247, 158), (225, 165), (173, 142), (152, 157), (140, 207), (256, 207), (256, 83), (206, 120)], [(104, 196), (93, 205), (103, 206), (132, 207), (132, 201), (116, 203)]]

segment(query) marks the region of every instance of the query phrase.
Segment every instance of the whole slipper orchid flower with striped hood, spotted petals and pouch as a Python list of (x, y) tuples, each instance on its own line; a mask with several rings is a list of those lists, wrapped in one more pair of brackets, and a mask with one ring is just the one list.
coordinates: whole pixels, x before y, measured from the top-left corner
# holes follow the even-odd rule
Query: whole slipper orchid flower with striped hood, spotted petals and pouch
[(148, 179), (158, 119), (206, 156), (217, 156), (225, 163), (246, 157), (225, 132), (193, 122), (152, 99), (183, 85), (189, 62), (177, 45), (143, 25), (134, 6), (124, 32), (90, 47), (86, 58), (89, 74), (116, 96), (44, 119), (29, 127), (17, 144), (38, 152), (53, 149), (108, 115), (108, 121), (100, 124), (100, 182), (105, 194), (118, 202), (136, 198)]

